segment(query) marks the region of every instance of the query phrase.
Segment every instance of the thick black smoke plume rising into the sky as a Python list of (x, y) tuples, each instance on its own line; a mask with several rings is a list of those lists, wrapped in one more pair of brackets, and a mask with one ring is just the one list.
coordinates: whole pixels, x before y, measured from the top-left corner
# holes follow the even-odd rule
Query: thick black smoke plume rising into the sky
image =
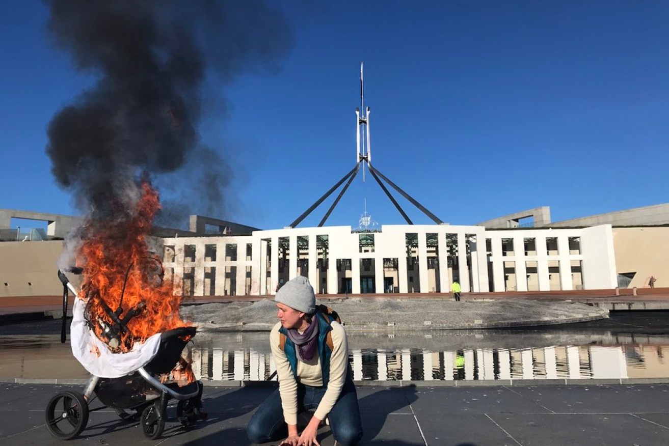
[(52, 171), (80, 210), (108, 219), (136, 199), (140, 177), (175, 172), (180, 209), (165, 216), (224, 209), (232, 169), (223, 148), (199, 144), (203, 86), (276, 70), (292, 43), (284, 15), (262, 0), (45, 3), (56, 44), (96, 76), (48, 126)]

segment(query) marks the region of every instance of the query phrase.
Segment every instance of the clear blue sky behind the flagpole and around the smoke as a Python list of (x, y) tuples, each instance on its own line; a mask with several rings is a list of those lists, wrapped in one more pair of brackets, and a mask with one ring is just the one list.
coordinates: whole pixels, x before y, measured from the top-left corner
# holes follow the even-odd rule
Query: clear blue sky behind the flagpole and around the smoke
[[(353, 167), (361, 62), (373, 164), (443, 221), (669, 201), (669, 3), (276, 4), (294, 36), (279, 70), (221, 86), (227, 108), (210, 107), (199, 128), (233, 166), (229, 212), (212, 217), (284, 227)], [(47, 16), (35, 0), (0, 5), (0, 208), (76, 214), (45, 130), (94, 78), (50, 43)], [(379, 224), (403, 223), (359, 175), (326, 224), (356, 226), (365, 198)]]

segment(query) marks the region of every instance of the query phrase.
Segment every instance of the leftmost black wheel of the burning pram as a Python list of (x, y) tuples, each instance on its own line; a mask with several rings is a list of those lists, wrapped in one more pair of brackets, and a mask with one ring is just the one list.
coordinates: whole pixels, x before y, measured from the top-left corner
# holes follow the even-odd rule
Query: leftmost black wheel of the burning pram
[(88, 423), (88, 403), (79, 392), (58, 393), (49, 401), (45, 412), (47, 429), (62, 440), (73, 439)]

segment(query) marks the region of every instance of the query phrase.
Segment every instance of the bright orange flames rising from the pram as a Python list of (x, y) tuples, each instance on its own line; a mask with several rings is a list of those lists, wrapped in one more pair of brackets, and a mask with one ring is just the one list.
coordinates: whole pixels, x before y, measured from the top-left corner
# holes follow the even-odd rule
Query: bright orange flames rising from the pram
[(98, 338), (109, 339), (102, 324), (115, 326), (114, 316), (105, 310), (121, 308), (119, 320), (133, 310), (137, 313), (126, 321), (127, 330), (116, 334), (118, 343), (107, 342), (119, 352), (130, 351), (134, 342), (153, 334), (187, 325), (179, 316), (181, 296), (163, 282), (161, 257), (147, 246), (153, 218), (161, 209), (158, 193), (147, 182), (140, 192), (134, 209), (119, 209), (122, 217), (116, 221), (89, 219), (77, 254), (77, 263), (84, 267), (81, 297), (89, 300), (86, 312)]

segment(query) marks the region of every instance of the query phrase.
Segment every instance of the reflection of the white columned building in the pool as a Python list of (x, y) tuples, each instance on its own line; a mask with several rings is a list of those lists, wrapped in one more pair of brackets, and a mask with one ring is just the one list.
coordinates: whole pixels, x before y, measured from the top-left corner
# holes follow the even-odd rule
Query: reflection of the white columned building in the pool
[[(270, 353), (192, 349), (193, 372), (203, 380), (265, 380)], [(354, 380), (509, 380), (646, 378), (669, 376), (669, 346), (551, 346), (522, 350), (419, 349), (351, 351)]]

